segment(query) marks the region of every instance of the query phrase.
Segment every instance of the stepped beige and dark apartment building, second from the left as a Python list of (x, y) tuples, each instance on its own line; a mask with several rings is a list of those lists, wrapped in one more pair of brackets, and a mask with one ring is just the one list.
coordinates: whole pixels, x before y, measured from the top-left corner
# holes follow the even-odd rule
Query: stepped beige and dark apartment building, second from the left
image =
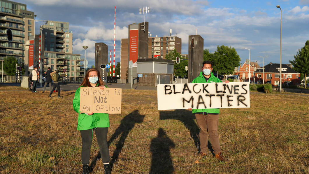
[(80, 54), (73, 54), (73, 33), (69, 30), (69, 23), (48, 20), (40, 29), (43, 72), (51, 67), (59, 70), (60, 77), (66, 77), (67, 81), (81, 81), (84, 77), (83, 59), (80, 59)]

